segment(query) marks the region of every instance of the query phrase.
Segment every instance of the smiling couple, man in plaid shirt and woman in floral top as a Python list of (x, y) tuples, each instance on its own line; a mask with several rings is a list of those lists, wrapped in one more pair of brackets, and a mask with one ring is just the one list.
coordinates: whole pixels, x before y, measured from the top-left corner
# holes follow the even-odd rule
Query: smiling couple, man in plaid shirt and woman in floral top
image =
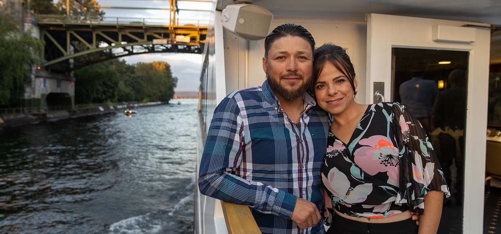
[(301, 25), (266, 37), (263, 69), (216, 107), (201, 193), (248, 205), (263, 233), (436, 233), (448, 187), (403, 105), (358, 103), (349, 56)]

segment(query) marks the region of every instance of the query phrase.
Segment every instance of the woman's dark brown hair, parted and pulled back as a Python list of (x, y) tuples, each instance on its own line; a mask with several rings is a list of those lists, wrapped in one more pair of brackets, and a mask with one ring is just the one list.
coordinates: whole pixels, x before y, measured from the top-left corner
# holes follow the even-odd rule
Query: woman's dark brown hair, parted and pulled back
[(332, 63), (338, 70), (340, 70), (351, 83), (351, 87), (353, 88), (353, 94), (357, 94), (357, 90), (355, 89), (355, 68), (353, 67), (353, 63), (351, 63), (350, 57), (341, 46), (326, 43), (322, 46), (315, 49), (313, 53), (313, 77), (310, 82), (310, 92), (314, 96), (315, 95), (315, 83), (318, 80), (318, 76), (320, 72), (322, 72), (322, 68), (326, 62)]

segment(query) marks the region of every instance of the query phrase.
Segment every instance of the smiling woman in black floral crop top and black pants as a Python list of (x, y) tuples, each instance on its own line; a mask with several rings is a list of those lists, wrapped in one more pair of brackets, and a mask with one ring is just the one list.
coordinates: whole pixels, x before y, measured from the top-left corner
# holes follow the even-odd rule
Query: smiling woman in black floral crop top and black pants
[[(335, 212), (327, 233), (436, 233), (449, 192), (419, 122), (397, 102), (357, 103), (353, 64), (333, 44), (315, 50), (311, 88), (333, 117), (322, 165)], [(421, 213), (419, 230), (411, 211)]]

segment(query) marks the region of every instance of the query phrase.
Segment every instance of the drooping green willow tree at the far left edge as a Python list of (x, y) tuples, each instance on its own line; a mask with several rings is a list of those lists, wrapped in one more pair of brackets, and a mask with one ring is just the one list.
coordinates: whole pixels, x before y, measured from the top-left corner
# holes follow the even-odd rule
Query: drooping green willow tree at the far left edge
[(19, 106), (40, 64), (43, 42), (20, 30), (17, 17), (0, 13), (0, 105)]

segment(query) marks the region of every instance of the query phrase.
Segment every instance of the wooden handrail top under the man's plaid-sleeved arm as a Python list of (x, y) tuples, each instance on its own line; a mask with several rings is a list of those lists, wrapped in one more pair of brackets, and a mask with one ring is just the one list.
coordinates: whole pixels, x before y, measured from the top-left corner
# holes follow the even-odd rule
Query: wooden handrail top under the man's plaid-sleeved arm
[(261, 234), (248, 205), (221, 201), (228, 234)]

